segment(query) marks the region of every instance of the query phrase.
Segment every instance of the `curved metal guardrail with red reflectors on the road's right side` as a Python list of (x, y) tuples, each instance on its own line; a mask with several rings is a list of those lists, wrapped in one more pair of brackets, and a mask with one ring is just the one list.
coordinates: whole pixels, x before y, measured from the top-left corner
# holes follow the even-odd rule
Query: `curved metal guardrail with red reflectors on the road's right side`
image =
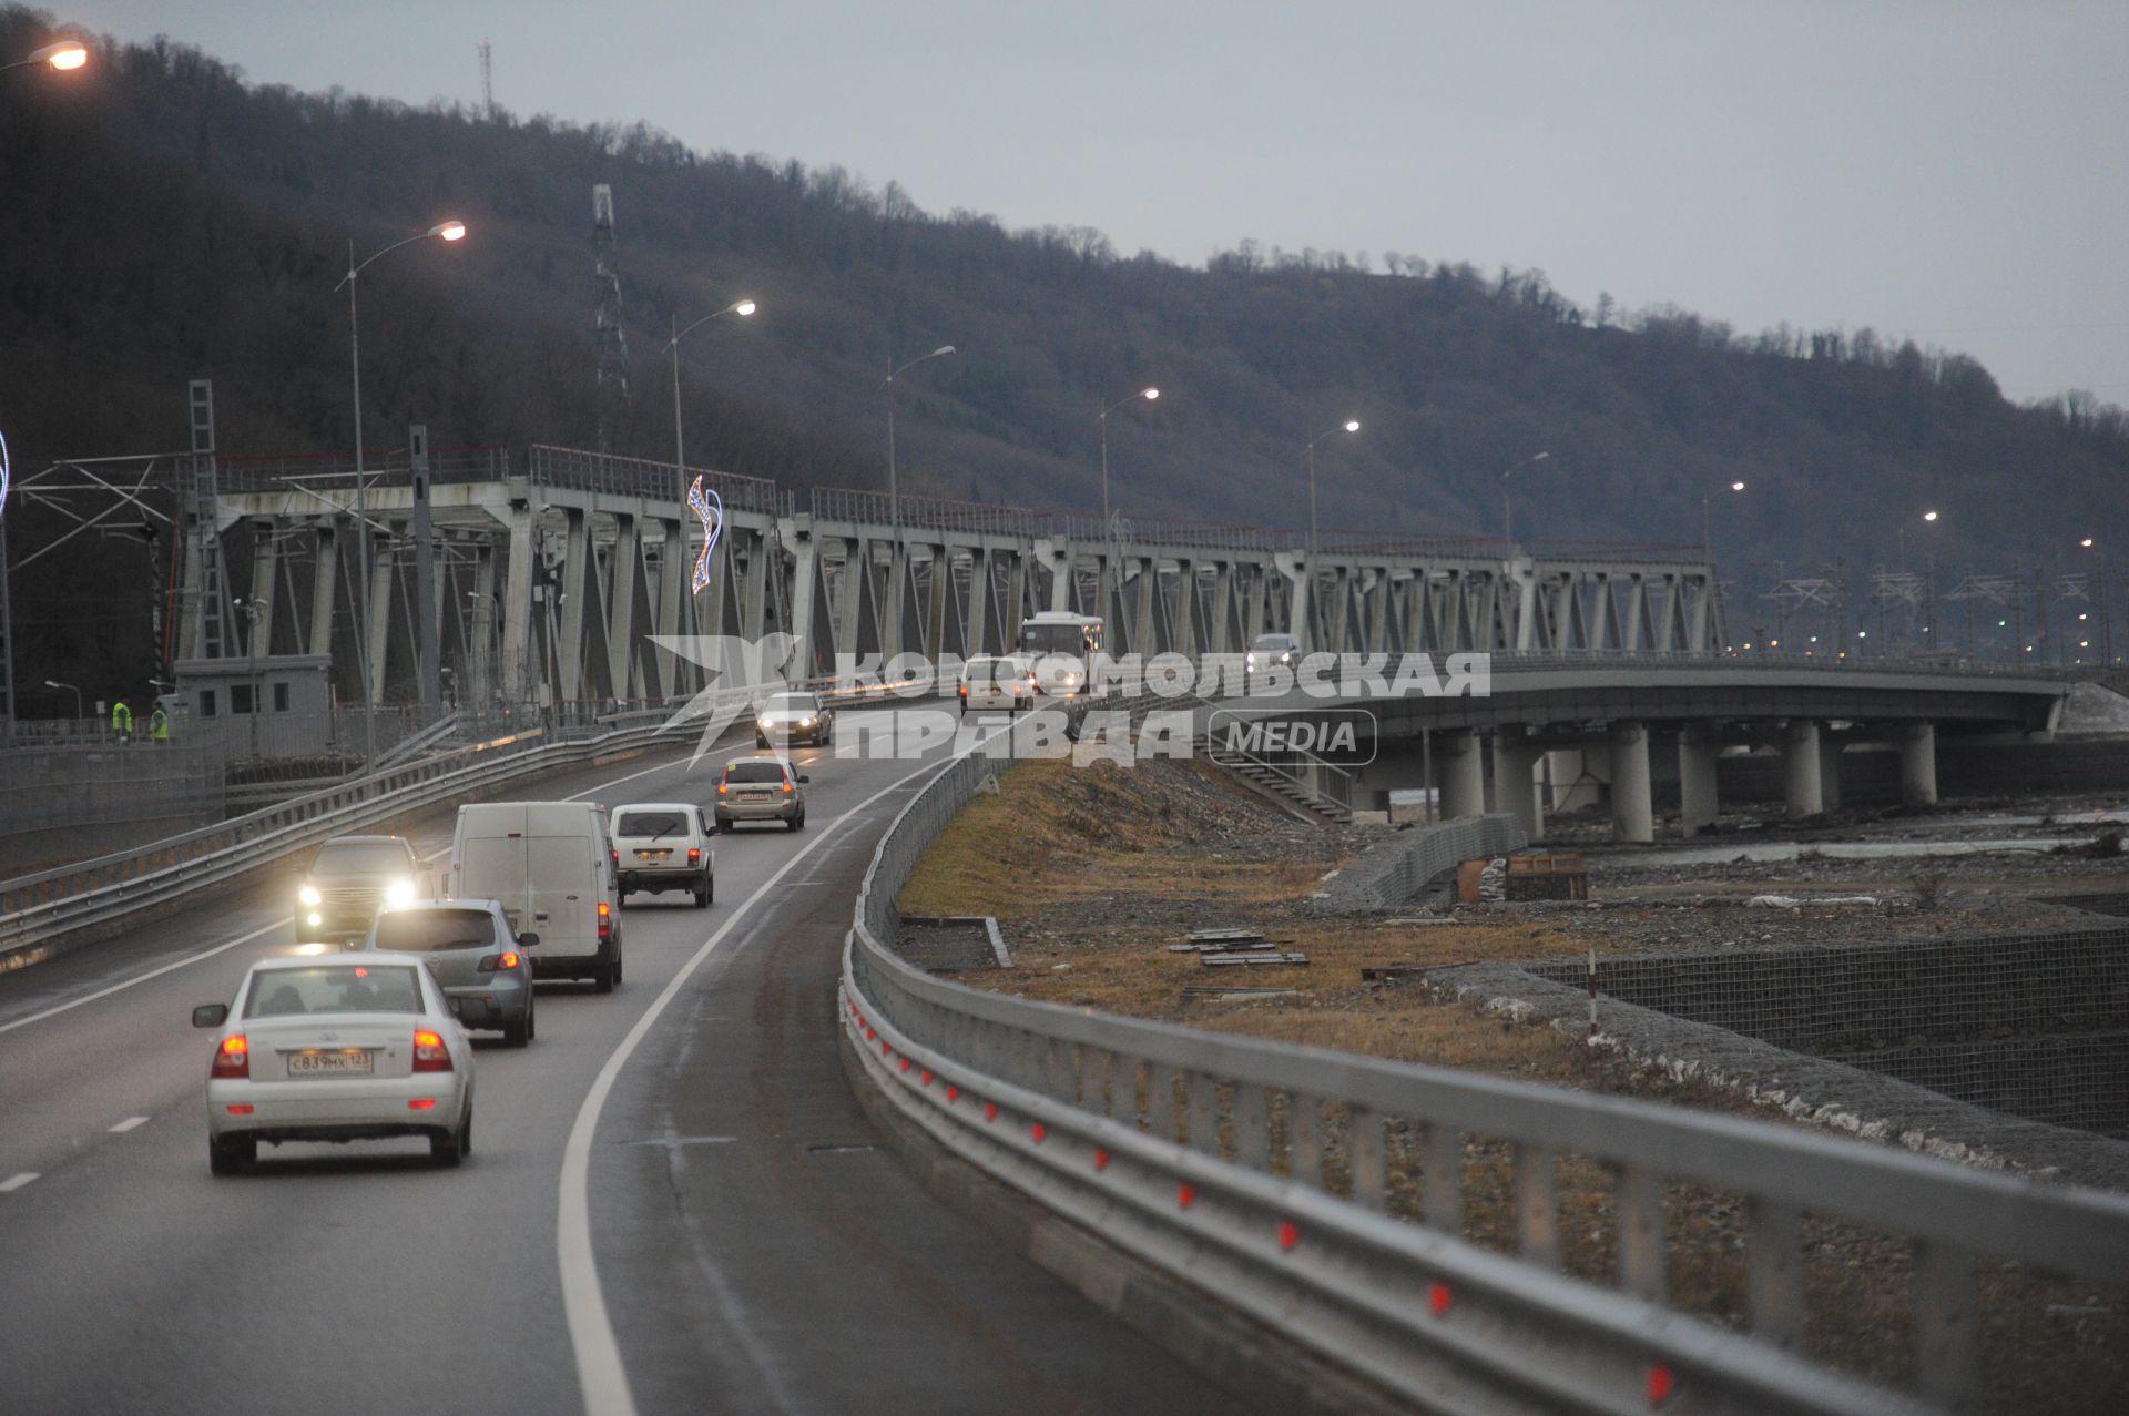
[[(837, 1007), (867, 1075), (984, 1171), (1426, 1410), (1957, 1407), (1978, 1393), (1978, 1256), (2108, 1284), (2129, 1273), (2129, 1199), (2116, 1195), (922, 973), (886, 943), (894, 896), (1003, 767), (954, 760), (873, 854)], [(1460, 1237), (1465, 1135), (1512, 1148), (1520, 1258)], [(1392, 1150), (1420, 1156), (1424, 1224), (1388, 1214)], [(1616, 1175), (1616, 1288), (1558, 1267), (1563, 1154)], [(1746, 1197), (1742, 1333), (1667, 1305), (1669, 1182)], [(1805, 1216), (1910, 1241), (1922, 1401), (1797, 1356)]]

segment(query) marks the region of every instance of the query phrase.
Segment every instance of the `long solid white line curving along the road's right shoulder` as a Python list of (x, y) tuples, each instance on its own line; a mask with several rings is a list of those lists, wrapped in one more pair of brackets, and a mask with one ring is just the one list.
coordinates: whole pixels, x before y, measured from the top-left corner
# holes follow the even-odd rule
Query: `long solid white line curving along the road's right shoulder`
[(835, 828), (852, 820), (867, 807), (871, 807), (881, 796), (901, 790), (909, 781), (922, 777), (924, 773), (939, 773), (947, 767), (947, 760), (933, 760), (913, 773), (905, 773), (879, 788), (849, 811), (843, 811), (835, 820), (826, 822), (811, 841), (807, 841), (790, 860), (777, 869), (775, 875), (764, 879), (754, 894), (739, 903), (739, 909), (726, 918), (724, 926), (715, 935), (703, 941), (703, 948), (681, 965), (673, 982), (666, 984), (651, 1005), (637, 1018), (637, 1026), (628, 1028), (628, 1037), (622, 1045), (613, 1050), (607, 1065), (598, 1069), (598, 1077), (592, 1082), (592, 1090), (585, 1092), (583, 1105), (577, 1107), (577, 1122), (568, 1129), (568, 1143), (562, 1148), (562, 1205), (560, 1216), (556, 1216), (556, 1258), (562, 1265), (562, 1314), (568, 1320), (568, 1344), (577, 1352), (577, 1384), (583, 1388), (583, 1410), (585, 1416), (634, 1416), (637, 1399), (628, 1390), (628, 1373), (622, 1369), (622, 1348), (613, 1339), (613, 1320), (607, 1316), (607, 1299), (598, 1288), (598, 1263), (592, 1256), (592, 1205), (590, 1205), (590, 1169), (592, 1169), (592, 1133), (598, 1129), (598, 1112), (607, 1105), (607, 1094), (613, 1090), (615, 1077), (622, 1075), (622, 1067), (634, 1054), (637, 1045), (643, 1041), (651, 1024), (666, 1009), (666, 1003), (686, 988), (694, 971), (703, 967), (724, 937), (732, 933), (754, 905), (769, 894), (786, 875), (790, 875), (798, 865), (811, 856), (818, 847), (826, 845)]

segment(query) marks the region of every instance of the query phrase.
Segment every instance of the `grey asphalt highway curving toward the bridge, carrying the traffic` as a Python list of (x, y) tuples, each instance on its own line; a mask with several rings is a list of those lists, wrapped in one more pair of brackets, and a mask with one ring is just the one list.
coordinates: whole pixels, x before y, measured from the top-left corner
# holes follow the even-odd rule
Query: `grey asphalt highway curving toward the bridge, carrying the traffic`
[[(835, 977), (941, 758), (794, 756), (803, 833), (720, 837), (711, 909), (628, 907), (617, 992), (545, 984), (528, 1050), (479, 1045), (458, 1171), (375, 1141), (209, 1175), (189, 1009), (294, 948), (292, 873), (0, 975), (0, 1412), (1239, 1410), (881, 1148)], [(715, 762), (502, 794), (703, 801)]]

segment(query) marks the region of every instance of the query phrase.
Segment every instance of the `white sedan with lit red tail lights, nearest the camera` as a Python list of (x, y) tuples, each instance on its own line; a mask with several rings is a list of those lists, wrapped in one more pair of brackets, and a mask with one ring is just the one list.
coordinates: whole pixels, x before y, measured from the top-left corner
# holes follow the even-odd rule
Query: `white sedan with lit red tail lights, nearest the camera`
[(260, 1141), (428, 1137), (436, 1165), (473, 1154), (473, 1043), (419, 960), (400, 954), (266, 958), (234, 1003), (192, 1009), (215, 1028), (207, 1160), (230, 1175)]

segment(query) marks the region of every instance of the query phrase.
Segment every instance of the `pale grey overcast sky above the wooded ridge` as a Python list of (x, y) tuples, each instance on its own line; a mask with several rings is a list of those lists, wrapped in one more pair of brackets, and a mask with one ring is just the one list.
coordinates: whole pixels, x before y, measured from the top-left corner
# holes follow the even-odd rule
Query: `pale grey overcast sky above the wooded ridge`
[[(75, 0), (260, 83), (645, 119), (928, 211), (1535, 266), (2129, 405), (2123, 0)], [(626, 202), (626, 198), (624, 198)], [(626, 209), (622, 211), (626, 241)]]

